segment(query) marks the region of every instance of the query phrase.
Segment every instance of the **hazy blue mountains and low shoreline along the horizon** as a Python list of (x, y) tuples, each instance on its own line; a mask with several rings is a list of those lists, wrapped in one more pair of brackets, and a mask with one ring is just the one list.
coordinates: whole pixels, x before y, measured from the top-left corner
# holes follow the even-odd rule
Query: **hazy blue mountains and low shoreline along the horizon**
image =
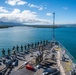
[[(21, 23), (13, 23), (13, 22), (3, 22), (0, 21), (0, 26), (28, 26), (28, 27), (44, 27), (49, 28), (53, 25), (26, 25)], [(76, 27), (76, 24), (55, 24), (55, 27)]]

